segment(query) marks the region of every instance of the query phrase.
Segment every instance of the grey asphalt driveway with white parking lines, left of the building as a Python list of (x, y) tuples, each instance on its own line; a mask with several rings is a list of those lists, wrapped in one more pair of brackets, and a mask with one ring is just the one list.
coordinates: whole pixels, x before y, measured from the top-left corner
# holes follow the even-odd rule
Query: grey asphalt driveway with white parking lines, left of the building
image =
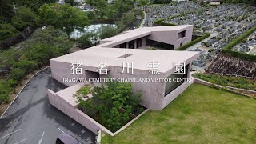
[(55, 144), (62, 131), (82, 143), (94, 143), (95, 135), (90, 130), (50, 105), (46, 90), (58, 91), (66, 86), (49, 75), (50, 68), (47, 68), (31, 78), (0, 119), (1, 144)]

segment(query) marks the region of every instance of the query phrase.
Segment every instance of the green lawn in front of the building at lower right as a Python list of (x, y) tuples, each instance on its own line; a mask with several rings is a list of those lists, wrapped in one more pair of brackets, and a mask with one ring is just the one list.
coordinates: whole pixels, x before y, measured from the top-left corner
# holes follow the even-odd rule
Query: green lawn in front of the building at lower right
[(255, 143), (256, 100), (193, 84), (102, 143)]

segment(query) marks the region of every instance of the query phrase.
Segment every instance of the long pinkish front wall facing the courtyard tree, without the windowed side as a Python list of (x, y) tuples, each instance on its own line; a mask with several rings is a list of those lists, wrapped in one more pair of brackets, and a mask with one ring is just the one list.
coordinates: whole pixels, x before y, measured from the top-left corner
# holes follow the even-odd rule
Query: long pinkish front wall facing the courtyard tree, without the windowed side
[[(86, 78), (85, 72), (80, 74), (70, 74), (71, 66), (65, 62), (50, 61), (52, 77), (58, 82), (65, 84), (66, 86), (73, 86), (78, 82), (63, 82), (63, 78)], [(83, 67), (83, 70), (87, 70), (88, 67)], [(89, 68), (90, 70), (90, 68)], [(92, 70), (92, 69), (91, 69)], [(159, 78), (159, 75), (148, 75), (147, 70), (134, 70), (134, 74), (122, 74), (122, 67), (110, 66), (110, 70), (107, 74), (109, 78)], [(95, 71), (95, 70), (94, 70)], [(104, 78), (105, 75), (100, 75), (100, 78)], [(166, 76), (163, 75), (162, 78)], [(163, 98), (164, 98), (164, 82), (132, 82), (134, 91), (141, 90), (142, 92), (142, 106), (152, 110), (162, 110)]]

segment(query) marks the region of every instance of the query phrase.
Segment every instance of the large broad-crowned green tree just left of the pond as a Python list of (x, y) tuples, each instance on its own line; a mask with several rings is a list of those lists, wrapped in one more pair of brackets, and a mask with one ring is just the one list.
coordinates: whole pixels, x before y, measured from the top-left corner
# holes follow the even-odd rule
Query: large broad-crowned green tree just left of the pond
[(86, 13), (74, 6), (45, 4), (38, 10), (38, 25), (54, 26), (70, 35), (75, 29), (84, 30), (89, 26)]

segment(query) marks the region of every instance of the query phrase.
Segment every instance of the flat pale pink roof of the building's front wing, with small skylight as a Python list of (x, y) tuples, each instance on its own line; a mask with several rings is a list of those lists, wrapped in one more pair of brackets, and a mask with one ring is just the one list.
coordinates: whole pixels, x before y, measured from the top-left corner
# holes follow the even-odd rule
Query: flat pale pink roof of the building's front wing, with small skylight
[[(119, 58), (130, 54), (127, 58)], [(72, 54), (53, 58), (51, 61), (58, 62), (82, 62), (83, 66), (98, 68), (100, 62), (106, 66), (120, 66), (122, 62), (133, 62), (134, 69), (148, 70), (148, 62), (159, 62), (159, 72), (165, 73), (173, 69), (174, 62), (186, 62), (190, 58), (197, 58), (199, 52), (176, 51), (176, 50), (142, 50), (142, 49), (121, 49), (121, 48), (89, 48)]]

